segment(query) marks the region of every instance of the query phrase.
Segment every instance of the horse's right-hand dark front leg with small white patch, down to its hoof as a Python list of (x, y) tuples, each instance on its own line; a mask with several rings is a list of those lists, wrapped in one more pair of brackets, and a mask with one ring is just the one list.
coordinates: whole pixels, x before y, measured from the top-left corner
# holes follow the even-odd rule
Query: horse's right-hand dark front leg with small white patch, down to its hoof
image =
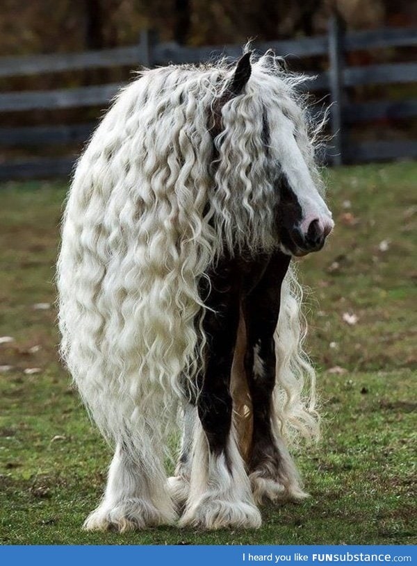
[(257, 503), (263, 498), (305, 497), (293, 459), (279, 436), (272, 405), (276, 371), (274, 332), (279, 316), (281, 283), (289, 263), (289, 256), (275, 253), (261, 280), (243, 302), (247, 333), (245, 371), (253, 408), (249, 468)]

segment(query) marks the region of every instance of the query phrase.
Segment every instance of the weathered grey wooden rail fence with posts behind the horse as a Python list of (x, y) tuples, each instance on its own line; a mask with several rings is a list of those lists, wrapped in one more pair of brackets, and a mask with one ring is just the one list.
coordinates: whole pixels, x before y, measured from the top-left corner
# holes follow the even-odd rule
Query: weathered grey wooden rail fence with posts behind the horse
[[(385, 28), (373, 31), (344, 33), (341, 19), (329, 20), (327, 35), (302, 38), (294, 41), (256, 43), (254, 49), (275, 53), (286, 59), (310, 56), (327, 56), (329, 70), (315, 76), (309, 90), (327, 91), (330, 94), (332, 147), (327, 149), (327, 161), (333, 165), (360, 163), (403, 157), (417, 157), (417, 140), (373, 141), (353, 143), (349, 128), (354, 124), (377, 119), (406, 119), (417, 116), (417, 99), (403, 101), (376, 101), (349, 103), (346, 89), (359, 85), (387, 85), (416, 83), (417, 63), (395, 63), (347, 67), (345, 53), (385, 47), (411, 47), (417, 45), (417, 29)], [(143, 31), (140, 42), (133, 47), (121, 47), (85, 53), (66, 53), (0, 59), (0, 78), (38, 75), (42, 73), (131, 65), (152, 67), (171, 63), (199, 63), (216, 56), (238, 58), (242, 53), (238, 45), (219, 47), (184, 47), (174, 43), (159, 43), (156, 35)], [(120, 84), (65, 88), (47, 91), (9, 92), (0, 94), (0, 113), (27, 110), (55, 110), (108, 105)], [(60, 124), (56, 126), (24, 126), (0, 128), (0, 147), (47, 147), (83, 142), (95, 123)], [(0, 164), (0, 180), (14, 178), (44, 178), (65, 176), (70, 173), (74, 156), (64, 158), (37, 158), (26, 161), (12, 160)]]

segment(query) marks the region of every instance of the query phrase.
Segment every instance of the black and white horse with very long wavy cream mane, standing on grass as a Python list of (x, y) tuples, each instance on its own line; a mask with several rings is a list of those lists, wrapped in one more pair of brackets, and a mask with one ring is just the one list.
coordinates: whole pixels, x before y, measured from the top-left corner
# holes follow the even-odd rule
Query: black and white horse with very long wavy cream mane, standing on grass
[(79, 159), (60, 352), (115, 449), (86, 529), (258, 528), (263, 501), (306, 497), (290, 449), (319, 415), (293, 258), (333, 221), (302, 81), (271, 51), (144, 69)]

